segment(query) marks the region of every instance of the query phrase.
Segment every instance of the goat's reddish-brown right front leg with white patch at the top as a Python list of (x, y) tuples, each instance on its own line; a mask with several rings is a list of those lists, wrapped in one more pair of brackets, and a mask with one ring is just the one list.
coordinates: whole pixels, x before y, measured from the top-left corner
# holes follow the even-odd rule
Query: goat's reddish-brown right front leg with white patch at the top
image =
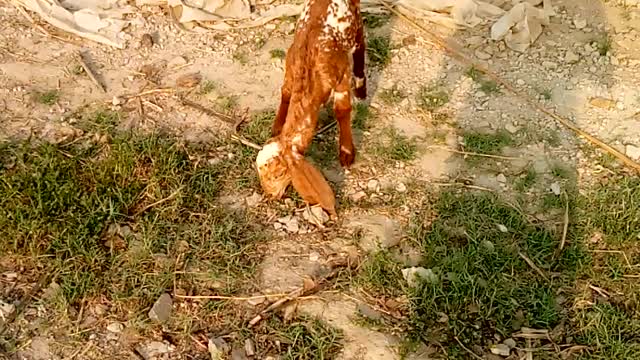
[(351, 76), (345, 76), (334, 91), (333, 111), (340, 127), (340, 164), (348, 168), (356, 158), (356, 148), (353, 145), (351, 133)]

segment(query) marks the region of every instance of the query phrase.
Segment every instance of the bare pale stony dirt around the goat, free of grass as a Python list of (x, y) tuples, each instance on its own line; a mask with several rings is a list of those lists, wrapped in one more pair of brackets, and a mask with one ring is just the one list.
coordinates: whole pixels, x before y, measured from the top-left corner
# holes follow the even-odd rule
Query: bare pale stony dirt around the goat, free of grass
[[(461, 31), (426, 25), (545, 107), (640, 160), (640, 8), (600, 0), (555, 0), (552, 4), (556, 16), (524, 53), (491, 41), (486, 24)], [(119, 124), (122, 128), (165, 129), (187, 142), (207, 143), (228, 139), (233, 126), (181, 103), (179, 95), (206, 107), (215, 105), (237, 112), (277, 108), (284, 63), (274, 54), (287, 49), (295, 20), (277, 20), (246, 31), (197, 34), (177, 29), (157, 7), (142, 8), (139, 16), (142, 21), (127, 31), (131, 35), (128, 47), (114, 50), (60, 34), (45, 25), (49, 34), (57, 37), (47, 36), (14, 6), (0, 4), (0, 141), (30, 137), (53, 143), (72, 141), (82, 135), (74, 126), (79, 116), (76, 114), (98, 106), (129, 114)], [(387, 37), (391, 44), (388, 64), (376, 66), (370, 62), (367, 68), (366, 103), (375, 113), (375, 122), (356, 131), (357, 146), (362, 151), (351, 171), (344, 172), (335, 162), (323, 167), (329, 180), (339, 187), (340, 196), (353, 204), (338, 209), (341, 222), (330, 225), (334, 229), (317, 232), (301, 217), (276, 220), (276, 212), (257, 195), (259, 188), (224, 194), (225, 201), (233, 206), (268, 212), (266, 218), (271, 218), (275, 228), (275, 237), (258, 266), (255, 287), (262, 293), (292, 291), (305, 276), (320, 276), (331, 254), (373, 251), (378, 246), (372, 240), (376, 238), (382, 242), (380, 246), (401, 248), (408, 266), (419, 264), (419, 251), (405, 242), (403, 233), (415, 209), (411, 203), (396, 206), (387, 202), (398, 194), (413, 196), (412, 184), (416, 181), (430, 184), (434, 191), (459, 186), (514, 199), (521, 192), (543, 197), (558, 188), (581, 189), (599, 174), (621, 169), (622, 165), (615, 162), (609, 164), (614, 170), (602, 165), (597, 160), (602, 153), (591, 144), (506, 89), (475, 75), (468, 64), (433, 46), (426, 34), (405, 21), (385, 17), (382, 26), (368, 30), (368, 36)], [(78, 50), (85, 51), (106, 92), (78, 69)], [(176, 88), (179, 78), (192, 73), (200, 74), (199, 87)], [(160, 90), (136, 96), (154, 89)], [(431, 91), (431, 95), (425, 95), (425, 91)], [(446, 101), (437, 111), (426, 111), (420, 102), (425, 96), (438, 98), (440, 91), (447, 94)], [(381, 133), (393, 131), (389, 129), (416, 144), (415, 159), (375, 161), (377, 155), (371, 149)], [(504, 134), (510, 140), (501, 158), (492, 158), (489, 164), (467, 161), (474, 155), (459, 152), (474, 151), (463, 144), (464, 134), (469, 132)], [(537, 178), (523, 191), (517, 184), (529, 169), (535, 170)], [(559, 177), (561, 171), (571, 176)], [(541, 211), (531, 204), (527, 213), (540, 220), (557, 220), (563, 209)], [(349, 236), (355, 228), (367, 231), (364, 240), (354, 245)], [(0, 267), (1, 286), (9, 292), (10, 286), (20, 282), (16, 283), (12, 275), (15, 267), (5, 265), (5, 269)], [(48, 286), (44, 284), (43, 291)], [(0, 292), (0, 300), (3, 296), (10, 298)], [(362, 311), (352, 293), (335, 290), (318, 296), (301, 302), (298, 311), (317, 316), (342, 331), (344, 343), (339, 358), (400, 358), (397, 346), (402, 333), (352, 321)], [(85, 311), (100, 320), (87, 328), (88, 340), (77, 343), (60, 335), (73, 328), (44, 325), (47, 310), (28, 306), (25, 313), (30, 319), (42, 315), (38, 320), (41, 326), (36, 320), (23, 323), (31, 323), (31, 335), (21, 339), (18, 351), (9, 358), (138, 358), (139, 352), (131, 349), (151, 341), (161, 349), (150, 358), (197, 358), (181, 354), (182, 350), (175, 350), (166, 338), (128, 336), (126, 328), (109, 327), (114, 323), (109, 314), (96, 309)], [(72, 319), (78, 315), (68, 316)], [(126, 323), (127, 319), (119, 321)], [(198, 345), (193, 343), (193, 347)], [(208, 356), (206, 350), (198, 351), (204, 354), (201, 358)], [(409, 356), (437, 358), (439, 350), (426, 347), (420, 351)], [(459, 358), (465, 356), (469, 354)], [(482, 358), (491, 356), (495, 355), (487, 352)]]

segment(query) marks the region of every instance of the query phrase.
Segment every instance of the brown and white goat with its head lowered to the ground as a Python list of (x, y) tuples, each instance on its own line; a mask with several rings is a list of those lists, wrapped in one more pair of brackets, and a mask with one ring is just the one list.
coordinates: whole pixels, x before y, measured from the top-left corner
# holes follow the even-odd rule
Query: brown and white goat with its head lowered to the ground
[(331, 187), (304, 154), (315, 136), (320, 107), (333, 94), (340, 164), (346, 168), (355, 160), (351, 88), (353, 81), (355, 96), (366, 97), (363, 31), (360, 0), (305, 1), (287, 52), (273, 137), (256, 159), (262, 187), (273, 198), (282, 197), (293, 183), (305, 202), (319, 204), (336, 217)]

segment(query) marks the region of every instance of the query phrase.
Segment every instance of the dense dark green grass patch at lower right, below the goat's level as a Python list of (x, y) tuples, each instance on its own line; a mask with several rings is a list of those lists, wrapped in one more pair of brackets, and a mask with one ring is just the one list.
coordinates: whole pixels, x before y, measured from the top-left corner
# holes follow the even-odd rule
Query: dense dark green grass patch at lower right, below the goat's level
[[(554, 259), (558, 238), (494, 195), (447, 192), (435, 211), (432, 223), (418, 213), (409, 235), (423, 248), (421, 265), (438, 278), (409, 293), (413, 337), (487, 346), (495, 334), (508, 337), (521, 326), (552, 329), (563, 321), (558, 295), (586, 265), (570, 255), (579, 247)], [(565, 277), (543, 279), (519, 253)]]

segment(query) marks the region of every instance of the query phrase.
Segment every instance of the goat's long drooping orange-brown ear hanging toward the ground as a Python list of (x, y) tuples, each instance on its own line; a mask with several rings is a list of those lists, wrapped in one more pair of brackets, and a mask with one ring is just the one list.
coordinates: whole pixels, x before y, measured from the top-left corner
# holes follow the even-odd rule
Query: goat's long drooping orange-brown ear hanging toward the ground
[(320, 170), (304, 158), (294, 161), (291, 165), (293, 187), (302, 199), (311, 205), (320, 205), (332, 219), (337, 219), (335, 195)]

